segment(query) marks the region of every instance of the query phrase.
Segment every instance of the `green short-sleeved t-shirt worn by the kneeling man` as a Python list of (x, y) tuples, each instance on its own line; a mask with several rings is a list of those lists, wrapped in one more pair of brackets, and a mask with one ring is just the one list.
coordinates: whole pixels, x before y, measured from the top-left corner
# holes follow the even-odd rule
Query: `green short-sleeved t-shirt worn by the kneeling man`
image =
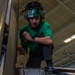
[(31, 42), (31, 41), (25, 41), (23, 38), (23, 32), (24, 31), (28, 32), (30, 34), (30, 36), (33, 38), (34, 37), (50, 36), (51, 39), (53, 39), (52, 30), (51, 30), (50, 24), (48, 22), (42, 21), (42, 23), (40, 24), (40, 27), (37, 30), (31, 29), (29, 24), (27, 24), (20, 29), (19, 37), (21, 39), (22, 47), (28, 48), (29, 51), (36, 50), (39, 46), (39, 43)]

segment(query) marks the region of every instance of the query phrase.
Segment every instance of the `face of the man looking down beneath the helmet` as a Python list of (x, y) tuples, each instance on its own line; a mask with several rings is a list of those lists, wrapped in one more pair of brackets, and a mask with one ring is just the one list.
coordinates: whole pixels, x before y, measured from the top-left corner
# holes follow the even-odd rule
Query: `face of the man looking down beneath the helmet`
[(29, 22), (30, 22), (30, 25), (33, 29), (37, 28), (40, 24), (40, 16), (39, 17), (33, 17), (33, 18), (29, 18)]

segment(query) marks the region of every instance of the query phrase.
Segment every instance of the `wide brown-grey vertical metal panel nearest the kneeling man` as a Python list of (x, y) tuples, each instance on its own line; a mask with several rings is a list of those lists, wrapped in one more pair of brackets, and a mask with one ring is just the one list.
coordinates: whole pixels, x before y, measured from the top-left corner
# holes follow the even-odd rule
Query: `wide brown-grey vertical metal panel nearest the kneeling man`
[[(16, 59), (16, 44), (17, 44), (17, 15), (18, 0), (11, 0), (11, 15), (8, 36), (8, 46), (5, 61), (4, 75), (15, 75), (15, 59)], [(16, 9), (16, 10), (15, 10)]]

